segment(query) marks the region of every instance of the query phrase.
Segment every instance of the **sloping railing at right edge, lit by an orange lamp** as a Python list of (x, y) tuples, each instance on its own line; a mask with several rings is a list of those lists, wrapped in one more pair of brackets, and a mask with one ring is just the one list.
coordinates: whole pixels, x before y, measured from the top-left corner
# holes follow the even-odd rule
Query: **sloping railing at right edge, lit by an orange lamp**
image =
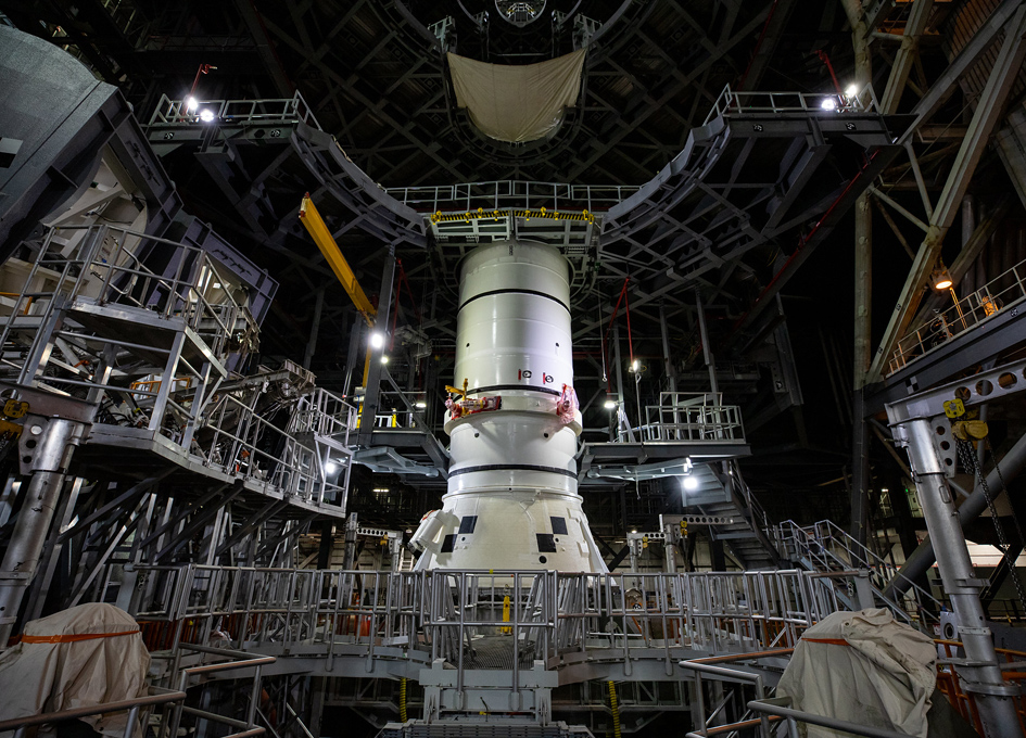
[[(951, 292), (954, 295), (953, 291)], [(1026, 260), (990, 280), (951, 307), (910, 330), (898, 341), (888, 377), (954, 336), (1019, 305), (1026, 298)]]

